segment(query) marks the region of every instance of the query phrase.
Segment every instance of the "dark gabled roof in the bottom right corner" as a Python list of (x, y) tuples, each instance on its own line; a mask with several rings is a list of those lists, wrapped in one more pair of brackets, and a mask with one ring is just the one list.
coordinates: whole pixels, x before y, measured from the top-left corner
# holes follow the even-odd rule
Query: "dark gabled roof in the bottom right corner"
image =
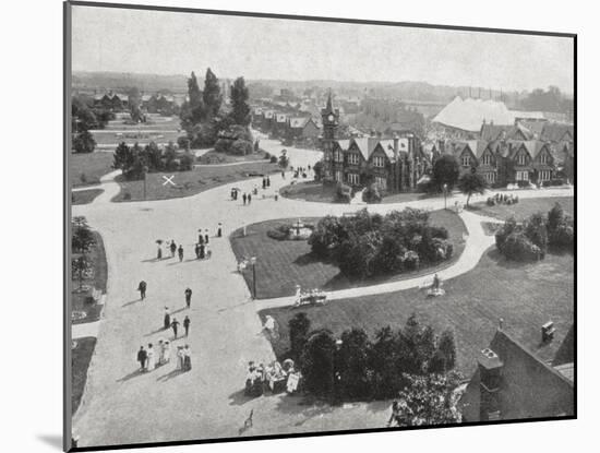
[[(496, 393), (501, 419), (574, 414), (574, 388), (566, 370), (568, 367), (564, 367), (564, 372), (552, 368), (503, 330), (495, 333), (490, 349), (503, 362), (500, 389)], [(459, 403), (468, 421), (480, 420), (480, 383), (478, 369)]]

